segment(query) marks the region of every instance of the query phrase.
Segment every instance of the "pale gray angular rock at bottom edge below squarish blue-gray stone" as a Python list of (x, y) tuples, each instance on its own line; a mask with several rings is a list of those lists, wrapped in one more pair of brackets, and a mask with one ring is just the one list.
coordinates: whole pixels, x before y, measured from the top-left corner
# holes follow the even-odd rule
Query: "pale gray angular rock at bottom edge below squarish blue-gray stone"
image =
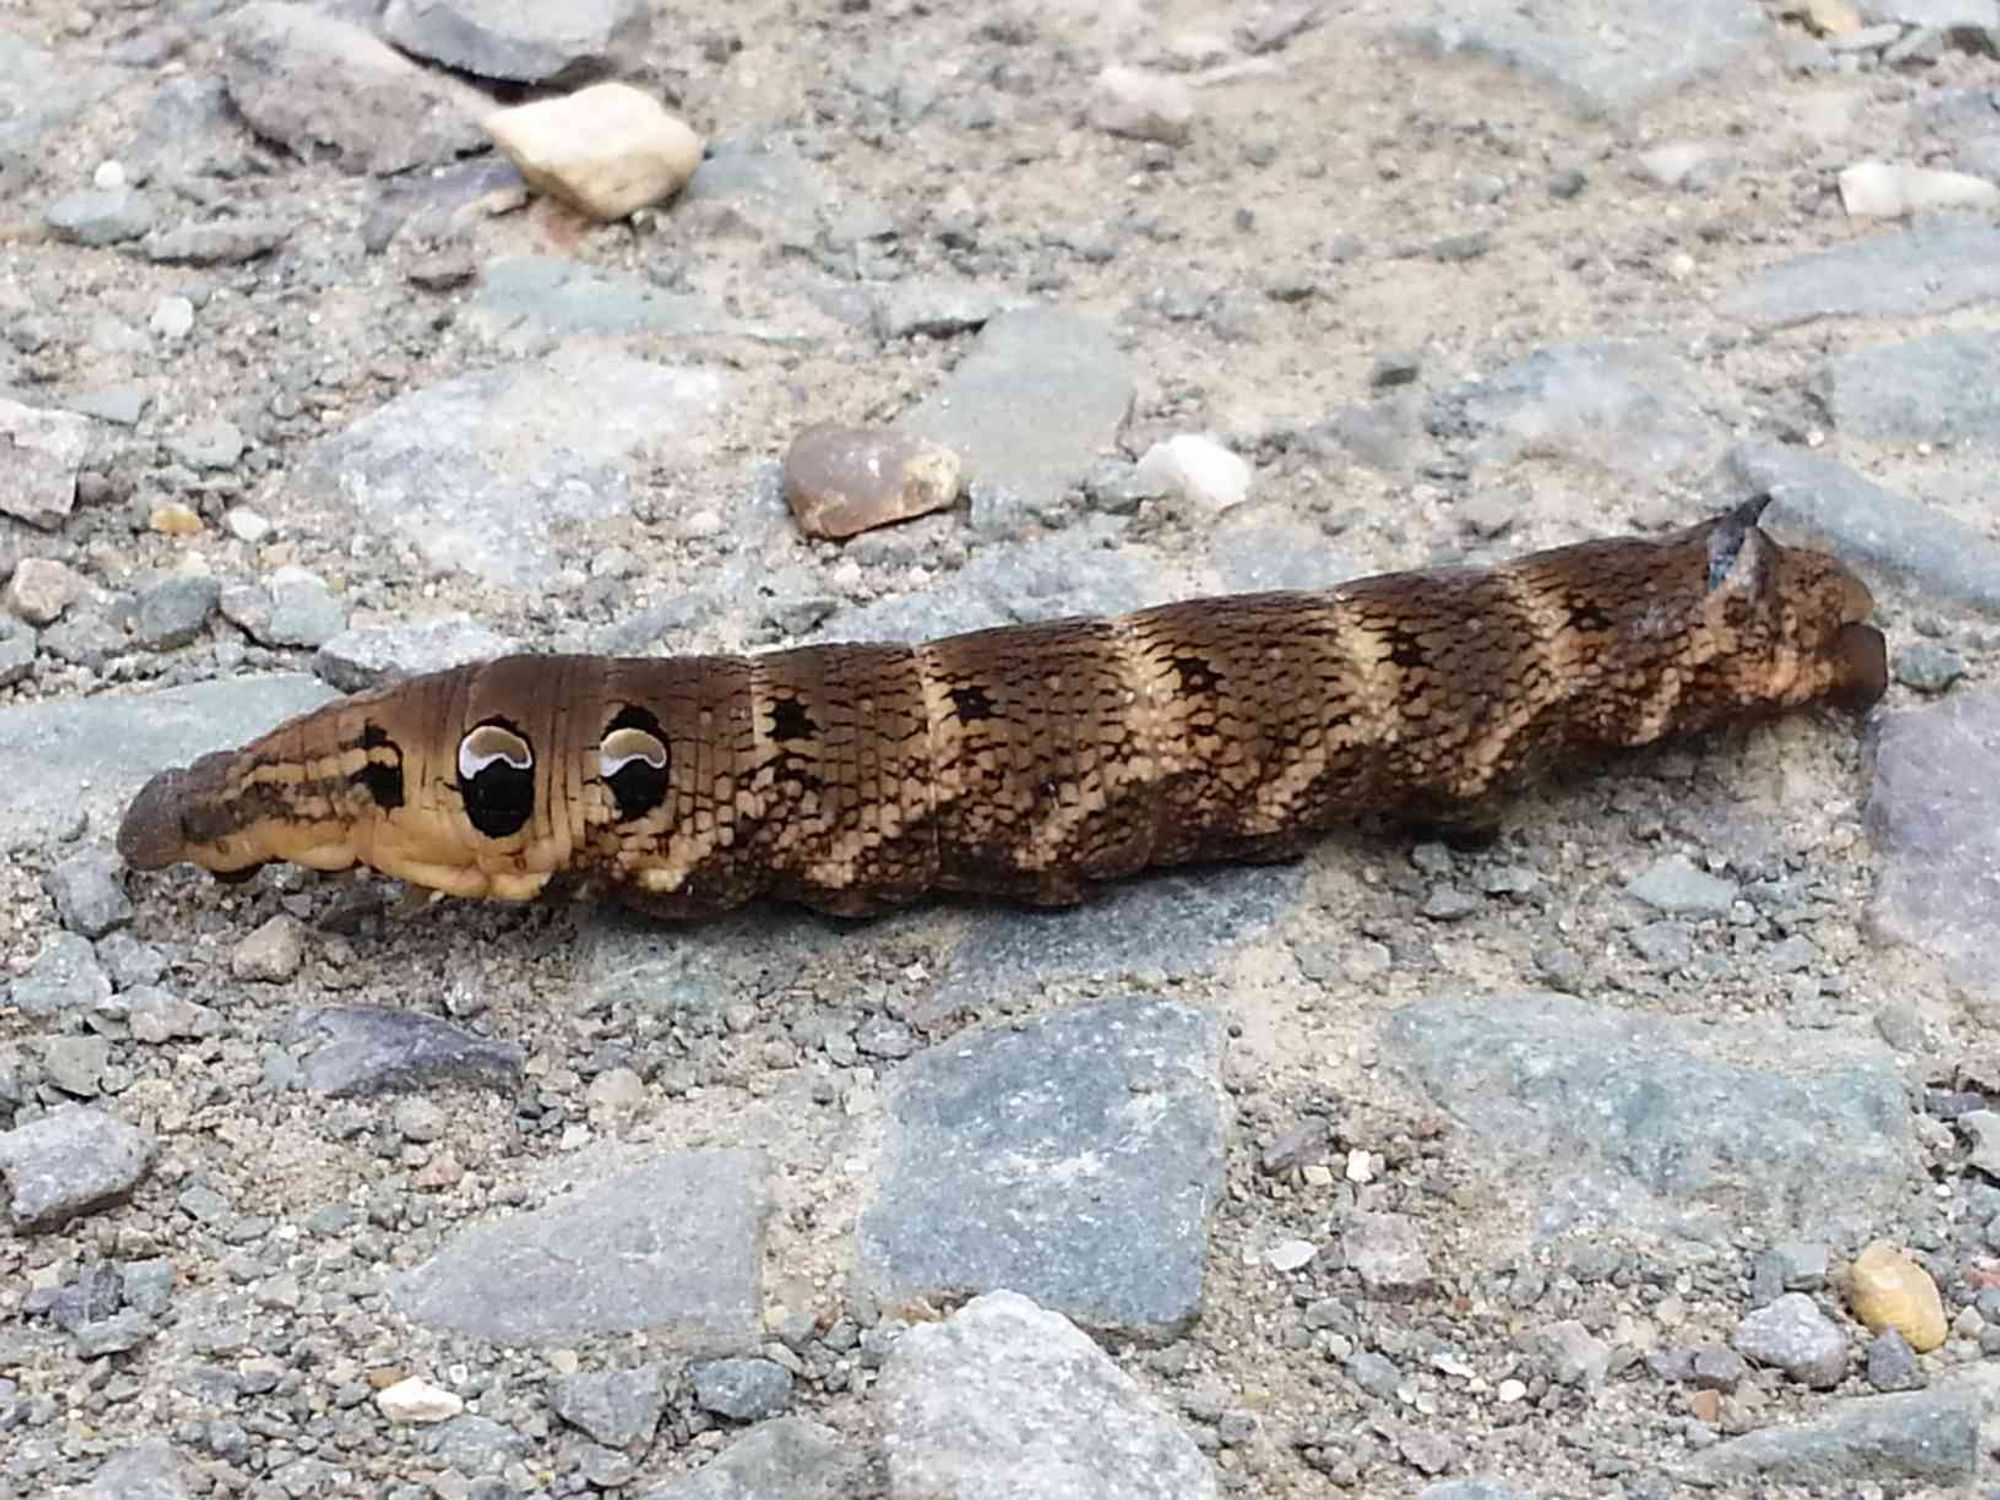
[(988, 1292), (882, 1368), (890, 1500), (1212, 1500), (1192, 1438), (1060, 1314)]

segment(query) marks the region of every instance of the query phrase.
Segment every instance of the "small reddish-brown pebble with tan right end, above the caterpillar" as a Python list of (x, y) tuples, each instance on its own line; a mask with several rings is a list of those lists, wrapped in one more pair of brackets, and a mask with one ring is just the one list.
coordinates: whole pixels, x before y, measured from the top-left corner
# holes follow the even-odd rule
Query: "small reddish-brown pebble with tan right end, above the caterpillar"
[(888, 428), (820, 422), (784, 456), (784, 498), (808, 536), (854, 536), (950, 506), (958, 454)]

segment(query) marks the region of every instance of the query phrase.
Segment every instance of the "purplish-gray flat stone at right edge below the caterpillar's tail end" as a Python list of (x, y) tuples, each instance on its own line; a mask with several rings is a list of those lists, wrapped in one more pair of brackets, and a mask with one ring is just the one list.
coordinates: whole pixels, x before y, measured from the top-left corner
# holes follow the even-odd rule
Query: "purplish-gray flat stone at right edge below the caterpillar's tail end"
[(2000, 1000), (2000, 692), (1888, 714), (1868, 824), (1884, 856), (1876, 920)]

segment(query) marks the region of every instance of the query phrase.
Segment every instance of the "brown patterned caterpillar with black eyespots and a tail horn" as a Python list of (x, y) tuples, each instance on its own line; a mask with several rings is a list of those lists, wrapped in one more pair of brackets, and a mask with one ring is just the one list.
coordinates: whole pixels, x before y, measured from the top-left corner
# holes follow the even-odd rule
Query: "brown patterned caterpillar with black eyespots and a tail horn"
[(1762, 500), (1666, 538), (928, 646), (508, 656), (154, 776), (118, 850), (246, 876), (552, 880), (662, 916), (928, 890), (1066, 904), (1362, 814), (1464, 816), (1564, 752), (1882, 696), (1866, 586)]

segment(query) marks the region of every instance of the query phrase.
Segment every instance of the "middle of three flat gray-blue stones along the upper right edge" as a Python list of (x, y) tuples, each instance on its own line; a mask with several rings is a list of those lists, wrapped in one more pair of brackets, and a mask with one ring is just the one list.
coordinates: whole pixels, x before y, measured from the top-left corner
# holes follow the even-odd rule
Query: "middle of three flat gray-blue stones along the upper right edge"
[(1834, 426), (1876, 442), (2000, 442), (2000, 334), (1946, 332), (1842, 354), (1822, 374)]

